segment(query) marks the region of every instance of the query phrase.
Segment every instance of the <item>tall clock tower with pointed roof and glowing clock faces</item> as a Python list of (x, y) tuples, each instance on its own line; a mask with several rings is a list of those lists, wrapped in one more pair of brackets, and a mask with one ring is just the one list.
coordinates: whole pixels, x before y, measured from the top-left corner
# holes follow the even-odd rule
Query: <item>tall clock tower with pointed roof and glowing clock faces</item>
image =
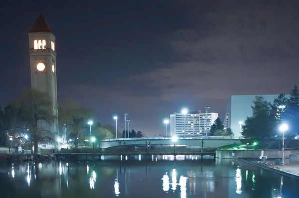
[[(55, 36), (41, 14), (29, 33), (31, 88), (47, 93), (52, 101), (51, 112), (58, 116), (56, 85)], [(58, 134), (58, 120), (42, 128)]]

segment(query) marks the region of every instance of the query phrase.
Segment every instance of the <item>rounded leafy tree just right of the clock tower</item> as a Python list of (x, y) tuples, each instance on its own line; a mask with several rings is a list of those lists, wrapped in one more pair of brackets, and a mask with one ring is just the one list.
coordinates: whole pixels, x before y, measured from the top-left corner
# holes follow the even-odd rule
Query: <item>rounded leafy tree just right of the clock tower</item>
[[(87, 122), (91, 117), (93, 117), (92, 110), (83, 106), (78, 106), (74, 101), (66, 100), (59, 107), (59, 128), (62, 129), (64, 124), (66, 124), (67, 137), (65, 137), (65, 140), (74, 138), (75, 148), (78, 148), (79, 143), (83, 142), (84, 128), (88, 127), (89, 131)], [(93, 132), (93, 129), (91, 131)]]

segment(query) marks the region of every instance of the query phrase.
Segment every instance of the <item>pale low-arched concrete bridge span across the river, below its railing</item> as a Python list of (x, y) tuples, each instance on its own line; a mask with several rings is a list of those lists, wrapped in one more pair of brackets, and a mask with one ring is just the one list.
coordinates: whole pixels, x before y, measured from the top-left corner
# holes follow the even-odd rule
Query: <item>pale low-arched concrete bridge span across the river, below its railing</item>
[(203, 141), (204, 148), (218, 148), (221, 146), (240, 144), (243, 137), (142, 137), (142, 138), (118, 138), (101, 141), (101, 148), (109, 148), (116, 146), (173, 146), (177, 147), (201, 147)]

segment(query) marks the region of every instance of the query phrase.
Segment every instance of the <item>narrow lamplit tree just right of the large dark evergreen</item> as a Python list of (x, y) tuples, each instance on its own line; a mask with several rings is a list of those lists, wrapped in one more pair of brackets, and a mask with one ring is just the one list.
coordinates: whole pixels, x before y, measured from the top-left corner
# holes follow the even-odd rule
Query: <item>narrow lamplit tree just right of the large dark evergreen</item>
[(288, 99), (284, 94), (280, 94), (276, 99), (274, 99), (273, 105), (271, 105), (273, 110), (273, 115), (275, 120), (279, 123), (282, 120), (283, 114), (286, 111), (286, 106), (288, 104)]

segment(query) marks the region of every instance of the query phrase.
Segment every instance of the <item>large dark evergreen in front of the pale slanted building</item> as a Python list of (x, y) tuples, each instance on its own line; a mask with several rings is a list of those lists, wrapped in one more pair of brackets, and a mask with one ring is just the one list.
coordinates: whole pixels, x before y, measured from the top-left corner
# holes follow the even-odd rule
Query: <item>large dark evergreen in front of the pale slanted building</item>
[(253, 138), (273, 136), (276, 124), (270, 103), (261, 96), (257, 96), (253, 102), (252, 116), (246, 118), (242, 135)]

